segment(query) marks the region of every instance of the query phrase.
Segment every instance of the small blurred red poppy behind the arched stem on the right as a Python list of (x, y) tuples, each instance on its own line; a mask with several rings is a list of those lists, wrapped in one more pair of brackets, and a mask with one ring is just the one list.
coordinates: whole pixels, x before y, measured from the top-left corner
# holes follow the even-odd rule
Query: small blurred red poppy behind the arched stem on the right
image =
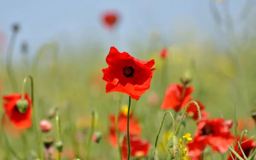
[[(189, 101), (192, 101), (193, 99), (189, 100)], [(201, 112), (201, 118), (202, 119), (205, 119), (205, 118), (208, 118), (209, 117), (209, 113), (204, 111), (204, 105), (198, 101), (198, 100), (193, 100), (195, 102), (198, 103), (199, 105), (199, 108), (200, 108), (200, 112)], [(194, 103), (190, 103), (189, 104), (189, 107), (187, 109), (187, 115), (189, 117), (192, 117), (194, 120), (198, 120), (199, 116), (198, 116), (198, 110), (197, 110), (197, 107)]]

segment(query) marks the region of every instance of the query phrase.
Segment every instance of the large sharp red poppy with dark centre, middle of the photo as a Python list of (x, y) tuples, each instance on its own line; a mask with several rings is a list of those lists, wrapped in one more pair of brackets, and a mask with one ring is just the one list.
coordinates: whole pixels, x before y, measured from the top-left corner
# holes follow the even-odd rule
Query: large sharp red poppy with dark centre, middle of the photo
[(120, 53), (111, 47), (106, 58), (108, 68), (102, 70), (103, 80), (107, 82), (106, 93), (122, 92), (139, 100), (150, 87), (155, 68), (154, 60), (140, 61), (127, 52)]

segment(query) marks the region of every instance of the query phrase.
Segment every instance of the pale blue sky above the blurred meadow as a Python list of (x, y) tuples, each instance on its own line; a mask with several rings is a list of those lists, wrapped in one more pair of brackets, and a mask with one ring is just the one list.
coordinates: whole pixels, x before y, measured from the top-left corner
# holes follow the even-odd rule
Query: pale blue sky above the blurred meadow
[[(239, 14), (244, 1), (230, 1), (232, 16)], [(217, 6), (222, 9), (220, 4)], [(123, 42), (121, 50), (127, 48), (127, 38), (143, 41), (151, 31), (170, 38), (175, 37), (177, 29), (193, 27), (201, 35), (215, 35), (209, 0), (0, 0), (0, 31), (9, 38), (10, 25), (20, 23), (15, 52), (24, 40), (29, 42), (31, 52), (51, 40), (86, 43), (90, 41), (88, 36), (100, 38), (108, 46), (110, 35), (99, 19), (100, 13), (108, 9), (122, 12), (115, 33)]]

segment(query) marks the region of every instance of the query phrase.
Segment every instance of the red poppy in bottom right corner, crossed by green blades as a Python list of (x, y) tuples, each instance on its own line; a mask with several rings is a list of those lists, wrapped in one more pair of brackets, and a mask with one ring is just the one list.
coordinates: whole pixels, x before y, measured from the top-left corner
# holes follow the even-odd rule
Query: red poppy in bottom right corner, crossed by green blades
[[(241, 137), (239, 137), (239, 140), (240, 140), (240, 138)], [(234, 147), (235, 151), (237, 151), (237, 148), (239, 147), (239, 145), (237, 143), (239, 140), (236, 139), (236, 145)], [(248, 140), (247, 137), (243, 137), (241, 142), (242, 143), (240, 145), (241, 145), (242, 150), (244, 151), (245, 156), (249, 157), (253, 153), (254, 149), (256, 148), (255, 140), (252, 140), (252, 139)], [(244, 157), (241, 152), (241, 149), (239, 150), (238, 154), (239, 154), (239, 156)], [(233, 153), (232, 153), (232, 156), (233, 156), (233, 158), (236, 157)], [(232, 157), (229, 155), (227, 160), (232, 160)]]

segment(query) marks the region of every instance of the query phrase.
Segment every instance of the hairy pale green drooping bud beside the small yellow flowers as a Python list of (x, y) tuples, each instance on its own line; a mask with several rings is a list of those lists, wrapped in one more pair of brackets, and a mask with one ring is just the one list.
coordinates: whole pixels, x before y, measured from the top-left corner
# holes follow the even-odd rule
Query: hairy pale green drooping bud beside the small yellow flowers
[(175, 135), (171, 136), (167, 143), (167, 152), (170, 160), (173, 160), (177, 154), (179, 148), (178, 140)]

